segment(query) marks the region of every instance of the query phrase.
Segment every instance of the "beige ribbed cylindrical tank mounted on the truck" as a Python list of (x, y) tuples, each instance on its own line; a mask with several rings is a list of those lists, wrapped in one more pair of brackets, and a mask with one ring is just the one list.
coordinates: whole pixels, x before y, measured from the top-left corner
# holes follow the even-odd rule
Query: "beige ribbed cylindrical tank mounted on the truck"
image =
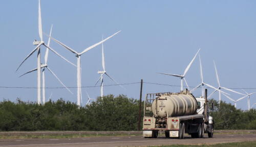
[(169, 93), (159, 95), (152, 103), (155, 116), (193, 115), (197, 111), (197, 100), (189, 92)]

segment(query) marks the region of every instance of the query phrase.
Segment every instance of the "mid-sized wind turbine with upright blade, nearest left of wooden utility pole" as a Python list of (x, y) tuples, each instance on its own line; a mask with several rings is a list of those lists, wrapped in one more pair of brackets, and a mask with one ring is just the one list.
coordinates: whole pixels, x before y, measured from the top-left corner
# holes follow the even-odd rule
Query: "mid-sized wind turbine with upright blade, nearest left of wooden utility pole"
[[(103, 36), (102, 36), (102, 40), (103, 40)], [(108, 76), (113, 82), (115, 82), (116, 84), (118, 84), (113, 78), (111, 78), (108, 74), (106, 74), (106, 70), (105, 70), (105, 58), (104, 58), (104, 49), (103, 49), (103, 43), (102, 43), (102, 48), (101, 48), (101, 52), (102, 52), (102, 71), (98, 71), (98, 74), (100, 74), (99, 79), (97, 80), (96, 84), (99, 82), (99, 80), (101, 81), (100, 84), (100, 97), (103, 97), (103, 75)], [(121, 85), (119, 85), (120, 87), (122, 87)], [(123, 88), (123, 87), (122, 87)]]

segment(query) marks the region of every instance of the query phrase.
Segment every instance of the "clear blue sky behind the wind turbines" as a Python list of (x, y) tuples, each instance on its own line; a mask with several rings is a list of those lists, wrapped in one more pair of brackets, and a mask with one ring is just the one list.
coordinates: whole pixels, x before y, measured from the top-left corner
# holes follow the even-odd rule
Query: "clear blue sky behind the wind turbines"
[[(201, 48), (204, 81), (218, 86), (213, 60), (215, 60), (220, 84), (228, 88), (252, 88), (256, 91), (256, 2), (255, 1), (50, 1), (41, 0), (43, 32), (70, 46), (77, 52), (121, 30), (104, 43), (106, 72), (118, 83), (134, 83), (143, 79), (143, 99), (146, 93), (179, 92), (180, 79), (157, 72), (183, 74), (186, 66)], [(36, 89), (3, 87), (36, 87), (37, 74), (20, 75), (36, 67), (36, 54), (20, 69), (18, 65), (34, 49), (33, 40), (38, 35), (38, 1), (0, 2), (0, 101), (35, 102)], [(44, 36), (46, 41), (48, 38)], [(76, 64), (73, 53), (51, 41), (50, 46), (59, 54)], [(45, 47), (41, 47), (41, 62), (44, 63)], [(76, 67), (49, 53), (48, 66), (68, 87), (76, 87)], [(100, 87), (94, 86), (101, 66), (101, 45), (81, 56), (82, 105), (88, 97), (100, 95)], [(187, 72), (189, 86), (200, 81), (199, 58)], [(104, 77), (104, 84), (113, 83)], [(62, 85), (46, 72), (46, 87)], [(124, 94), (139, 99), (140, 84), (104, 87), (106, 94)], [(254, 89), (253, 89), (254, 88)], [(241, 89), (234, 89), (243, 92)], [(66, 89), (46, 89), (46, 99), (76, 102)], [(212, 89), (209, 89), (211, 92)], [(228, 91), (225, 91), (228, 92)], [(199, 96), (201, 89), (193, 92)], [(234, 100), (242, 95), (228, 92)], [(244, 92), (243, 92), (244, 93)], [(218, 93), (213, 98), (219, 99)], [(233, 104), (222, 95), (222, 100)], [(250, 105), (256, 103), (256, 94), (251, 95)], [(237, 103), (246, 110), (247, 98)], [(254, 108), (256, 106), (254, 105)]]

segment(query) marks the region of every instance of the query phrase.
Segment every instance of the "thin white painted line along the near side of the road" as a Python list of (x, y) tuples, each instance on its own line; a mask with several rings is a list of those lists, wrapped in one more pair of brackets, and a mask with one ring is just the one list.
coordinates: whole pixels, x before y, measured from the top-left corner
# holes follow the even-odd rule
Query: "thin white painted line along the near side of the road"
[(23, 145), (1, 145), (2, 146), (39, 146), (39, 145), (65, 145), (65, 144), (89, 144), (89, 143), (115, 143), (115, 142), (148, 142), (148, 141), (166, 141), (163, 140), (137, 140), (137, 141), (105, 141), (105, 142), (78, 142), (78, 143), (49, 143), (49, 144), (23, 144)]

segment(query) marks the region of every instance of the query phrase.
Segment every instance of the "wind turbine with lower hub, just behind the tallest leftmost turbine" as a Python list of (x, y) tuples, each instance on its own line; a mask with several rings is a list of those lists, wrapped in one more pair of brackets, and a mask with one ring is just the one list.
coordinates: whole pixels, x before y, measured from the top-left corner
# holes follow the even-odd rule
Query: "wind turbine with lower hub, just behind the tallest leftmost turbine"
[[(50, 36), (51, 36), (51, 34), (52, 34), (52, 26), (51, 26), (51, 30), (50, 30)], [(49, 37), (48, 43), (47, 43), (48, 46), (50, 46), (50, 41), (51, 41), (51, 39), (50, 39), (50, 37)], [(45, 91), (45, 70), (46, 70), (46, 69), (48, 69), (48, 70), (51, 72), (51, 74), (60, 82), (60, 84), (61, 84), (62, 86), (64, 86), (71, 94), (73, 94), (73, 93), (70, 91), (70, 89), (69, 89), (65, 84), (63, 84), (63, 83), (61, 82), (61, 80), (57, 77), (57, 75), (54, 74), (54, 72), (49, 68), (49, 66), (48, 66), (48, 64), (47, 64), (47, 62), (48, 62), (48, 55), (49, 55), (49, 48), (46, 48), (45, 64), (41, 64), (41, 68), (42, 68), (42, 104), (45, 104), (45, 101), (46, 101), (46, 91)], [(64, 57), (63, 57), (63, 58), (64, 58)], [(66, 59), (66, 60), (67, 60), (67, 59)], [(71, 62), (70, 62), (70, 63), (71, 63)], [(73, 64), (73, 63), (72, 63), (72, 64)], [(76, 66), (75, 64), (73, 64), (73, 65)], [(33, 71), (36, 71), (36, 70), (37, 70), (37, 68), (32, 69), (32, 70), (26, 72), (25, 74), (23, 74), (22, 76), (24, 76), (24, 75), (26, 75), (26, 74), (29, 74), (30, 72), (33, 72)], [(20, 77), (22, 77), (22, 76), (20, 76)]]

